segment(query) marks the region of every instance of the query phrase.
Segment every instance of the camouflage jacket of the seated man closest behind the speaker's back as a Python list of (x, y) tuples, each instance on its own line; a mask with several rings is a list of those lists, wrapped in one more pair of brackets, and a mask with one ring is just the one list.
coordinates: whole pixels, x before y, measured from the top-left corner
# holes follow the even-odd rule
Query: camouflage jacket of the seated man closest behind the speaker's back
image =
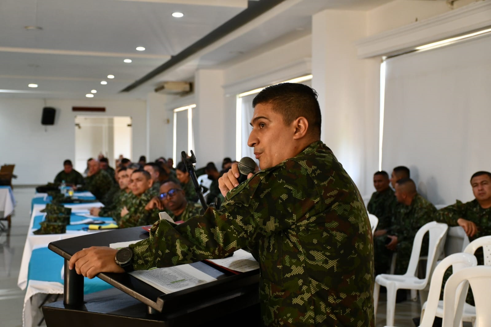
[(367, 205), (367, 210), (372, 215), (379, 218), (377, 230), (387, 229), (390, 227), (390, 222), (394, 216), (394, 210), (397, 199), (394, 191), (388, 187), (381, 192), (373, 192), (372, 197)]

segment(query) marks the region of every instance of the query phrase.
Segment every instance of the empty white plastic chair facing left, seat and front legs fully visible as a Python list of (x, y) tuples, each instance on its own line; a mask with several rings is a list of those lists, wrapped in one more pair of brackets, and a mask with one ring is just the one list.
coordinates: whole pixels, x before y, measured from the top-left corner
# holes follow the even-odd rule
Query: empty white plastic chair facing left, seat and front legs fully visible
[[(424, 290), (427, 287), (428, 281), (436, 266), (436, 259), (443, 250), (444, 237), (447, 229), (447, 224), (437, 222), (430, 222), (419, 228), (412, 243), (411, 257), (409, 258), (406, 274), (381, 274), (375, 278), (374, 313), (377, 315), (380, 286), (385, 286), (387, 288), (387, 326), (394, 325), (396, 293), (398, 289)], [(426, 232), (430, 234), (428, 261), (426, 262), (426, 276), (421, 279), (416, 275), (416, 268), (419, 260), (419, 252), (421, 251), (421, 243)]]

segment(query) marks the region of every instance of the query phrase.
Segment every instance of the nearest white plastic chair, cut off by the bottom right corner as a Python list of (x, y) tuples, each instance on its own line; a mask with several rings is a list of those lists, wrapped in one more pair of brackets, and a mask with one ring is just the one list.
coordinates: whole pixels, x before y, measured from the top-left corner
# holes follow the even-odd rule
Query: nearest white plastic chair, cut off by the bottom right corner
[[(462, 283), (464, 283), (463, 286), (461, 286)], [(474, 326), (491, 326), (489, 305), (491, 290), (490, 266), (464, 268), (448, 278), (443, 292), (442, 326), (458, 327), (460, 325), (469, 284), (476, 304), (476, 323)]]

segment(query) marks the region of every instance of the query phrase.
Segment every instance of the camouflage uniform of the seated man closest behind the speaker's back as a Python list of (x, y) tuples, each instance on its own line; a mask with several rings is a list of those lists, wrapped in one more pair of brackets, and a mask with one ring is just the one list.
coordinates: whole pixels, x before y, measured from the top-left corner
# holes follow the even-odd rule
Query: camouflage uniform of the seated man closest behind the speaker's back
[[(377, 230), (388, 229), (394, 216), (397, 199), (394, 191), (388, 187), (381, 192), (374, 192), (367, 205), (367, 210), (379, 218)], [(390, 267), (392, 253), (385, 248), (386, 236), (374, 237), (375, 275), (385, 274)]]

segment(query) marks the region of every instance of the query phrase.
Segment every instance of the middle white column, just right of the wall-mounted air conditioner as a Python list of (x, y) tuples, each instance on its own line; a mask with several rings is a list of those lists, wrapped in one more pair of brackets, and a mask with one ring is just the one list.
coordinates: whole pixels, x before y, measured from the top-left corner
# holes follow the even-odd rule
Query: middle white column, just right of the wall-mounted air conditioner
[[(227, 152), (225, 140), (227, 138), (235, 140), (235, 134), (230, 135), (227, 132), (229, 127), (225, 124), (225, 117), (228, 116), (226, 109), (235, 110), (235, 108), (226, 108), (225, 106), (222, 70), (198, 70), (194, 83), (196, 108), (192, 112), (192, 125), (196, 167), (203, 167), (208, 162), (213, 161), (219, 171), (221, 160)], [(232, 124), (235, 126), (235, 122)]]

